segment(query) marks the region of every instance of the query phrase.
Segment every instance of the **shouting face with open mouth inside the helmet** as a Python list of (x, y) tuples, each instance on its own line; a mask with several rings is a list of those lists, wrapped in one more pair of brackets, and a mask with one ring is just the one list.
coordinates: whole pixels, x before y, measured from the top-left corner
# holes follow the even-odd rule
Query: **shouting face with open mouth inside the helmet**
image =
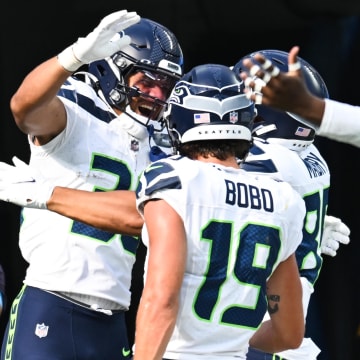
[(138, 71), (128, 78), (128, 85), (138, 90), (136, 96), (130, 99), (132, 111), (157, 120), (175, 85), (175, 79), (147, 70)]

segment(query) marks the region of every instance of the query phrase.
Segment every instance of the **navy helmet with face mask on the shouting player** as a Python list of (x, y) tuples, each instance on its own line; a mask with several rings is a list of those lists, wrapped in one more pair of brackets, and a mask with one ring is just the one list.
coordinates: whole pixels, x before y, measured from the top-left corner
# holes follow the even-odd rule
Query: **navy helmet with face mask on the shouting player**
[(128, 46), (104, 60), (89, 64), (88, 71), (92, 78), (95, 77), (95, 87), (110, 106), (121, 111), (125, 111), (130, 99), (136, 96), (151, 98), (157, 106), (164, 107), (166, 103), (160, 99), (129, 87), (127, 79), (141, 71), (149, 79), (159, 80), (170, 95), (183, 74), (183, 53), (179, 42), (169, 29), (145, 18), (123, 33), (131, 37)]

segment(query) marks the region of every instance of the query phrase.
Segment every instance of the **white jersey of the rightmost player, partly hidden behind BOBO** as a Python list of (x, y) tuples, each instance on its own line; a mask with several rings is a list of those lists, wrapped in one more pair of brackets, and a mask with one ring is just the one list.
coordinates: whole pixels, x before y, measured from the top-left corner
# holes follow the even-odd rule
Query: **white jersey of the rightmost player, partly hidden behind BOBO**
[[(293, 151), (285, 146), (254, 138), (254, 145), (241, 167), (255, 174), (288, 182), (305, 201), (303, 239), (295, 255), (302, 277), (306, 317), (310, 296), (314, 292), (314, 284), (323, 262), (320, 243), (330, 188), (328, 165), (313, 144), (302, 151)], [(304, 339), (299, 349), (284, 351), (280, 355), (286, 359), (309, 360), (316, 358), (319, 352), (310, 339)]]

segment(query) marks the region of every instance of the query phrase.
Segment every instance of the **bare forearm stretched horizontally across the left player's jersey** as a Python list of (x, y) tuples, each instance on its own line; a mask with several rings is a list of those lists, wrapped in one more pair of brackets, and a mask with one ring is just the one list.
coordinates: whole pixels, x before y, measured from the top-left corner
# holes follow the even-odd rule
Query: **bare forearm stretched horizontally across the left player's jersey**
[(143, 220), (133, 191), (89, 192), (55, 187), (48, 210), (96, 228), (139, 236)]

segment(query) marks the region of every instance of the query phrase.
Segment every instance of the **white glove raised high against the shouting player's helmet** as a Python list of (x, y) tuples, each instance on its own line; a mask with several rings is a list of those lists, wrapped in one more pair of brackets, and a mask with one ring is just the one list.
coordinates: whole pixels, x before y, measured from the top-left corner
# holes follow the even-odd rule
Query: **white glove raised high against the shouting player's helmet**
[(78, 40), (58, 55), (60, 65), (74, 72), (83, 64), (105, 59), (130, 44), (128, 35), (119, 32), (140, 21), (136, 12), (121, 10), (104, 17), (86, 37)]

